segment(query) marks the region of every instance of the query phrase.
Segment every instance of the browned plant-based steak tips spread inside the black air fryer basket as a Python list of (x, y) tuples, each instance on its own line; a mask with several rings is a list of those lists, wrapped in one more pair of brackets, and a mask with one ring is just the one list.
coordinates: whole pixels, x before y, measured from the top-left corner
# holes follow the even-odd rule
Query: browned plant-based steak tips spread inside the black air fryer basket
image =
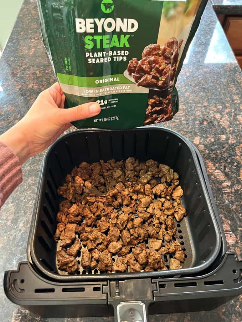
[[(145, 51), (150, 49), (157, 46)], [(150, 99), (150, 106), (157, 107), (157, 100)], [(182, 267), (186, 254), (176, 240), (176, 224), (187, 212), (179, 175), (169, 166), (134, 157), (82, 162), (66, 175), (58, 193), (67, 198), (60, 203), (54, 235), (62, 271), (167, 270), (167, 253), (173, 254), (170, 269)]]

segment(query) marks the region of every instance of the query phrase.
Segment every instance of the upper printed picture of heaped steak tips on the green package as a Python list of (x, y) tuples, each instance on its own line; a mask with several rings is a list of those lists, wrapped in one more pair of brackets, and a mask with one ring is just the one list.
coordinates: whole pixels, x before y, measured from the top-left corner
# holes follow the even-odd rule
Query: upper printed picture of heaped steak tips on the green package
[(133, 76), (137, 86), (167, 88), (175, 77), (176, 65), (181, 42), (178, 45), (175, 37), (166, 44), (150, 44), (142, 52), (142, 59), (129, 61), (127, 71)]

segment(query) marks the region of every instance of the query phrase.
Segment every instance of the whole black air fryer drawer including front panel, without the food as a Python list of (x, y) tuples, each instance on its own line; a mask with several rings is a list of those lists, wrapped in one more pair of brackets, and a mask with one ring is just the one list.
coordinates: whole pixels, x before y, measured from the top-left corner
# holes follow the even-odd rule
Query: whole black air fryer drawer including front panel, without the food
[[(154, 159), (180, 175), (182, 204), (187, 208), (187, 216), (177, 223), (187, 254), (182, 269), (63, 274), (56, 267), (57, 244), (53, 239), (62, 200), (56, 188), (82, 161), (124, 160), (129, 156), (140, 161)], [(128, 321), (130, 314), (146, 321), (148, 306), (150, 314), (206, 310), (241, 293), (242, 263), (235, 254), (226, 253), (201, 156), (187, 139), (164, 128), (77, 130), (57, 140), (42, 162), (27, 254), (28, 262), (21, 263), (15, 272), (5, 273), (5, 292), (13, 302), (47, 317), (108, 316), (115, 308), (117, 321)], [(165, 261), (168, 265), (169, 256)]]

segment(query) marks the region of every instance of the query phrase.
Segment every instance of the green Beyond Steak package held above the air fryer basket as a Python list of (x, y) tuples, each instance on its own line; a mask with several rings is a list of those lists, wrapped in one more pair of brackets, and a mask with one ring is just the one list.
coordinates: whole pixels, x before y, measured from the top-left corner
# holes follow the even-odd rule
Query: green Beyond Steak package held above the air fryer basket
[(37, 0), (43, 42), (65, 107), (96, 101), (77, 128), (171, 120), (175, 87), (207, 0)]

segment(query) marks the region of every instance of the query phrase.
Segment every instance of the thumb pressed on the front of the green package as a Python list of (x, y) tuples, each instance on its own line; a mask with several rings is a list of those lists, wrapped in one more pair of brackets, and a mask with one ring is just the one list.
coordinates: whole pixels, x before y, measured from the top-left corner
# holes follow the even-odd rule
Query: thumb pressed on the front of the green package
[(60, 121), (66, 124), (84, 118), (91, 118), (99, 114), (100, 111), (100, 105), (96, 102), (85, 103), (69, 109), (59, 109)]

